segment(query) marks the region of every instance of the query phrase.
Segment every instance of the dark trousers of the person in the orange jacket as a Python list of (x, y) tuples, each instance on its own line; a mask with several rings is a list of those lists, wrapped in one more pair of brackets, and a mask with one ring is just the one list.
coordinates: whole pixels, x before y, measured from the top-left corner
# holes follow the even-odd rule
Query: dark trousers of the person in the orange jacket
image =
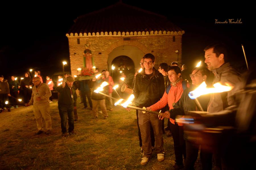
[(183, 165), (183, 158), (186, 160), (186, 144), (183, 139), (183, 126), (178, 126), (177, 124), (170, 123), (173, 143), (174, 143), (174, 153), (175, 153), (175, 162), (177, 165)]

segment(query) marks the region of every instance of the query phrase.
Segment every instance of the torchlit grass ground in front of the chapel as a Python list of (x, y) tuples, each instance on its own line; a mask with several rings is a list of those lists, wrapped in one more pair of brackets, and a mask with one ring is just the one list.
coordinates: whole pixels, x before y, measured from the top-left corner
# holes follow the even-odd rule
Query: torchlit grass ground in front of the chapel
[[(78, 99), (80, 101), (80, 99)], [(35, 135), (32, 107), (0, 114), (0, 169), (173, 169), (173, 139), (164, 135), (164, 162), (156, 154), (145, 166), (141, 157), (136, 112), (114, 107), (109, 118), (92, 119), (91, 110), (78, 105), (76, 135), (62, 137), (57, 101), (50, 104), (53, 133)], [(166, 121), (165, 121), (166, 122)], [(196, 169), (200, 169), (199, 159)]]

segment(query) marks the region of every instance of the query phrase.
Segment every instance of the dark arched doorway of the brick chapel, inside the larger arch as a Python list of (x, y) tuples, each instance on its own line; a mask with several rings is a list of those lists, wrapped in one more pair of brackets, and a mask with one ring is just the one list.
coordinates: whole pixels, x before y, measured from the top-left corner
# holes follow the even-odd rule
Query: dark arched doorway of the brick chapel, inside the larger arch
[(122, 75), (125, 75), (125, 82), (130, 86), (133, 82), (133, 76), (135, 73), (134, 62), (128, 56), (117, 56), (112, 60), (111, 65), (115, 66), (112, 70), (112, 77), (116, 84), (119, 84), (119, 79)]

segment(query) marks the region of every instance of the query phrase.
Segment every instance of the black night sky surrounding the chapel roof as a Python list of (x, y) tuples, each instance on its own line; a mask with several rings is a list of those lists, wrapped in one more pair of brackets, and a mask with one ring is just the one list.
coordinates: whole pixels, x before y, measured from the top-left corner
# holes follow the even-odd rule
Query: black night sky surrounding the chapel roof
[[(52, 75), (62, 70), (61, 61), (69, 61), (68, 39), (65, 36), (78, 16), (99, 10), (118, 1), (95, 1), (66, 4), (5, 5), (0, 12), (0, 75), (21, 76), (29, 68), (41, 70), (42, 75)], [(241, 44), (247, 60), (255, 61), (255, 6), (193, 5), (183, 7), (174, 1), (123, 1), (145, 10), (167, 16), (185, 31), (182, 39), (183, 63), (194, 65), (204, 56), (209, 43), (222, 41), (229, 45), (233, 64), (245, 67)], [(32, 7), (28, 7), (31, 6)], [(202, 5), (202, 4), (201, 4)], [(241, 18), (243, 24), (215, 24), (215, 19), (225, 21)], [(68, 67), (67, 67), (68, 68)]]

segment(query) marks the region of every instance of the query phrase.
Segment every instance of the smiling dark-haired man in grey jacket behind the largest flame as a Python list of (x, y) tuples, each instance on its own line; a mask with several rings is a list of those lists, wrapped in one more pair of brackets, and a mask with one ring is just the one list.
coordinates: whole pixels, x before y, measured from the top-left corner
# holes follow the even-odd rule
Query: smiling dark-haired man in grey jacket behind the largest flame
[[(210, 71), (214, 73), (213, 84), (220, 82), (235, 86), (241, 82), (241, 76), (236, 69), (227, 62), (227, 51), (223, 44), (211, 44), (205, 48), (205, 63)], [(207, 111), (219, 112), (225, 108), (235, 105), (235, 90), (223, 93), (212, 93)]]

